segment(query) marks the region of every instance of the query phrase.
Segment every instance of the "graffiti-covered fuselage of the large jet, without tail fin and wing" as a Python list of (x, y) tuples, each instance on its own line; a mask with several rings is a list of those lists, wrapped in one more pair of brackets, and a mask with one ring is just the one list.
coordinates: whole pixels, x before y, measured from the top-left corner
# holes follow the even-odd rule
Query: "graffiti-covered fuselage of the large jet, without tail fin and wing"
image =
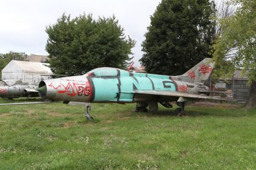
[(40, 96), (57, 101), (76, 102), (165, 102), (177, 96), (148, 96), (137, 91), (179, 91), (200, 94), (208, 90), (202, 83), (185, 82), (179, 77), (146, 73), (129, 73), (116, 68), (97, 68), (83, 76), (64, 77), (40, 82), (45, 87)]

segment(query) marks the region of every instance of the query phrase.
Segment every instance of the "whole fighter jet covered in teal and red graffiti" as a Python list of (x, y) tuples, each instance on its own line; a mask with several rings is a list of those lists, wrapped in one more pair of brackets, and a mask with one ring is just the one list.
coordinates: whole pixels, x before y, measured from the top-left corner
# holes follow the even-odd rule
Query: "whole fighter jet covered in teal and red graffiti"
[[(171, 68), (170, 68), (171, 69)], [(213, 69), (212, 58), (202, 62), (180, 76), (130, 73), (118, 68), (96, 68), (82, 76), (44, 80), (38, 91), (43, 99), (53, 101), (132, 103), (138, 112), (158, 110), (158, 103), (171, 108), (170, 102), (180, 107), (175, 113), (182, 115), (185, 105), (198, 99), (219, 99), (208, 96), (209, 88), (204, 85)], [(90, 106), (85, 111), (87, 119)]]

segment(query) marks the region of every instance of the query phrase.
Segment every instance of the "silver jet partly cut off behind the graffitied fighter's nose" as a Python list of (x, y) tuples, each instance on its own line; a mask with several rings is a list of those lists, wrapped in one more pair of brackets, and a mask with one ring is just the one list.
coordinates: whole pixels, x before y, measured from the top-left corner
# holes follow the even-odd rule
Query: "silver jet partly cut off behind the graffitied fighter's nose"
[(13, 99), (18, 97), (39, 97), (38, 84), (23, 82), (21, 80), (1, 80), (0, 97)]

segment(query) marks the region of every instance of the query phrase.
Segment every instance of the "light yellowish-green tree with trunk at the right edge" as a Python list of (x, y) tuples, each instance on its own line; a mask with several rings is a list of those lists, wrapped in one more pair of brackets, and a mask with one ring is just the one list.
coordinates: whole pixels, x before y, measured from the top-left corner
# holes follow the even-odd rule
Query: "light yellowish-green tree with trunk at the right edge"
[(222, 30), (213, 45), (213, 57), (222, 77), (230, 77), (235, 69), (243, 68), (251, 83), (245, 105), (249, 108), (256, 102), (256, 1), (231, 0), (230, 3), (237, 9), (233, 16), (221, 19)]

